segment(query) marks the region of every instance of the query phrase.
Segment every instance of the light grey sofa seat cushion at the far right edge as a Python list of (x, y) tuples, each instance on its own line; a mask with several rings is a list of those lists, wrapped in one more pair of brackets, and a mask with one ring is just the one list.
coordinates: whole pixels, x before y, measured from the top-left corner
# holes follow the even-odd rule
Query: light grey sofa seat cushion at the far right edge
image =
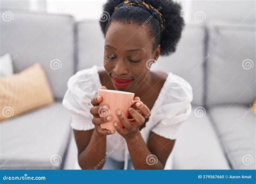
[(233, 169), (256, 169), (255, 116), (250, 107), (221, 105), (209, 114)]

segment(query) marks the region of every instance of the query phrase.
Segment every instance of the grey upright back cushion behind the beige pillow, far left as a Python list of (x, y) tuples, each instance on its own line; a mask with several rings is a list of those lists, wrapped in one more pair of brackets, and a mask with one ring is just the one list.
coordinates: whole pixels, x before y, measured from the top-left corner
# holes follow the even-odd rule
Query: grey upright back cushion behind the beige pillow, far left
[[(1, 17), (4, 12), (1, 11)], [(40, 62), (53, 94), (56, 98), (62, 98), (66, 83), (74, 73), (74, 19), (48, 13), (9, 13), (13, 19), (0, 19), (0, 55), (11, 54), (15, 72)]]

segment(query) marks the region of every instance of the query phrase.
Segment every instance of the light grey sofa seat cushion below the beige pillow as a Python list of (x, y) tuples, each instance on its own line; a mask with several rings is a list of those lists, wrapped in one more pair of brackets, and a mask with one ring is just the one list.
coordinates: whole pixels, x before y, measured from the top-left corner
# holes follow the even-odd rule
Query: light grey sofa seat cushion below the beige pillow
[(0, 169), (60, 169), (70, 135), (60, 102), (0, 124)]

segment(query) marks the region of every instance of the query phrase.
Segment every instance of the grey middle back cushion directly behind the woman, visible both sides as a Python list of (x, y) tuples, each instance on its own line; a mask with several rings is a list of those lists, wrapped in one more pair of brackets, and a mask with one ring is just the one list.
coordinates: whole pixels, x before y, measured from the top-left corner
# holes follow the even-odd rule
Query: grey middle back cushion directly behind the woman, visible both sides
[[(77, 68), (103, 65), (104, 36), (98, 20), (77, 23)], [(205, 30), (201, 24), (188, 24), (177, 47), (170, 56), (160, 57), (156, 70), (164, 70), (184, 77), (193, 87), (192, 103), (203, 105)], [(193, 71), (194, 70), (194, 71)]]

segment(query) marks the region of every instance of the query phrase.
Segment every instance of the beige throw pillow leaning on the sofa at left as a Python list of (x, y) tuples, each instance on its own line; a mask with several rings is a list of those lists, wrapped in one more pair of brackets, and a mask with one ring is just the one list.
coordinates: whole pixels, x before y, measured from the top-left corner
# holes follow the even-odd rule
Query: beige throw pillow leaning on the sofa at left
[(0, 122), (53, 102), (51, 88), (39, 63), (0, 78)]

